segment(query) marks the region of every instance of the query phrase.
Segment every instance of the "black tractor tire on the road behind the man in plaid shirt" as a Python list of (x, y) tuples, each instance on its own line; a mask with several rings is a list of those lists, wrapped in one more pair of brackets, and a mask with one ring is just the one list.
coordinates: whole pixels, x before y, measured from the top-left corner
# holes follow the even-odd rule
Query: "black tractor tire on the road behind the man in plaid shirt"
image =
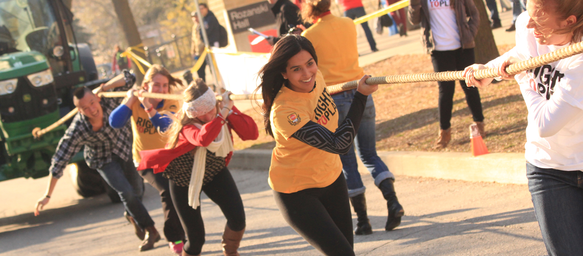
[(106, 192), (103, 178), (96, 170), (89, 168), (85, 161), (71, 164), (69, 172), (73, 187), (80, 196), (94, 197)]

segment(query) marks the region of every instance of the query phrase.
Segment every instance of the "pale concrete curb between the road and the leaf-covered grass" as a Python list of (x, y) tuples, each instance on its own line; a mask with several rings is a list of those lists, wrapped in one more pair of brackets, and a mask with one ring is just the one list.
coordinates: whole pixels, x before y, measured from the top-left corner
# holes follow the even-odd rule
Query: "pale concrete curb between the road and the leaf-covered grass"
[[(272, 150), (237, 150), (229, 164), (237, 170), (269, 170)], [(459, 152), (387, 152), (378, 156), (395, 175), (465, 181), (526, 184), (523, 153), (489, 153), (473, 157)], [(359, 172), (368, 173), (359, 160)]]

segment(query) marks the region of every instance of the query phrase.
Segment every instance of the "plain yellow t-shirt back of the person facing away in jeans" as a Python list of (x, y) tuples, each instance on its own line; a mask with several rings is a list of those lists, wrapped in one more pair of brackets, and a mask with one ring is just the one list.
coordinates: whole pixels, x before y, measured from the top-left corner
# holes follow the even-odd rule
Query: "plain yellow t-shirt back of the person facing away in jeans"
[(359, 80), (364, 70), (359, 66), (359, 49), (356, 43), (356, 26), (352, 19), (326, 15), (304, 30), (318, 56), (318, 69), (326, 85)]

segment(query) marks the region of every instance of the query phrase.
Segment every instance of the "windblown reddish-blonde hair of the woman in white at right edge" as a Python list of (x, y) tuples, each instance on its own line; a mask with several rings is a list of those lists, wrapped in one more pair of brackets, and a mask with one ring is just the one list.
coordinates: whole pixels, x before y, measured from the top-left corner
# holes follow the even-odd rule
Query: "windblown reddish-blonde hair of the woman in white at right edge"
[[(522, 0), (521, 0), (522, 1)], [(554, 30), (556, 34), (573, 34), (571, 43), (578, 43), (583, 37), (583, 1), (581, 0), (528, 0), (532, 1), (536, 8), (553, 12), (559, 20), (566, 20), (573, 15), (577, 21), (564, 29)]]

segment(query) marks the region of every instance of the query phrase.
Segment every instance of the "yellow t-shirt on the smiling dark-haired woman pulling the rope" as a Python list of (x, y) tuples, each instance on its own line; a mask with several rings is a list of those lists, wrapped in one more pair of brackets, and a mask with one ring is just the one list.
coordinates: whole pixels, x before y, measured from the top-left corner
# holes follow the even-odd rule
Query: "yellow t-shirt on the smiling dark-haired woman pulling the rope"
[(310, 93), (299, 93), (283, 86), (271, 109), (271, 129), (276, 146), (271, 156), (269, 186), (275, 191), (293, 193), (306, 188), (332, 184), (340, 172), (340, 157), (291, 138), (308, 121), (317, 122), (330, 131), (338, 128), (338, 111), (326, 92), (322, 73)]

